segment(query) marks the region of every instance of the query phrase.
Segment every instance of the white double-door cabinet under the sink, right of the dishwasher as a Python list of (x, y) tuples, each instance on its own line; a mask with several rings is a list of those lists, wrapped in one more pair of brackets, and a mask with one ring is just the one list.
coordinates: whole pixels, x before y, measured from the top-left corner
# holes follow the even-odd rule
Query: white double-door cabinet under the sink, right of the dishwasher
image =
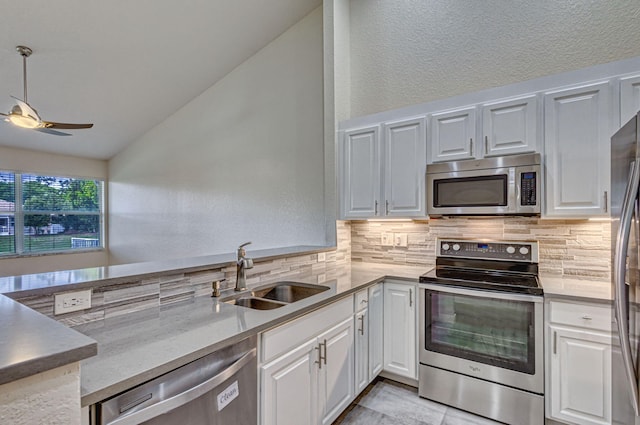
[(353, 401), (353, 297), (262, 334), (260, 423), (330, 424)]

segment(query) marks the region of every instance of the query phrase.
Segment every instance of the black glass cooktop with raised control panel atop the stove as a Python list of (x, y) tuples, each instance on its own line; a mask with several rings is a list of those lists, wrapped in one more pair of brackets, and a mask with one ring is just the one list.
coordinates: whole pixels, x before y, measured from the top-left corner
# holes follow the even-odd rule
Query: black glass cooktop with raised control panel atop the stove
[(436, 267), (421, 283), (542, 295), (536, 242), (436, 241)]

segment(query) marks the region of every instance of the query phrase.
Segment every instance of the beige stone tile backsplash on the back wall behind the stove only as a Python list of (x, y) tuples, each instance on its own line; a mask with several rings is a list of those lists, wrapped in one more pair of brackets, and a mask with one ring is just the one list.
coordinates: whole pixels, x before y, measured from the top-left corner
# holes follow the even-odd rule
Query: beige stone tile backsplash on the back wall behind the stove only
[[(408, 246), (388, 247), (381, 234), (406, 233)], [(536, 218), (455, 218), (428, 222), (351, 222), (351, 260), (393, 264), (435, 264), (435, 239), (537, 240), (543, 276), (610, 279), (611, 225), (603, 221)]]

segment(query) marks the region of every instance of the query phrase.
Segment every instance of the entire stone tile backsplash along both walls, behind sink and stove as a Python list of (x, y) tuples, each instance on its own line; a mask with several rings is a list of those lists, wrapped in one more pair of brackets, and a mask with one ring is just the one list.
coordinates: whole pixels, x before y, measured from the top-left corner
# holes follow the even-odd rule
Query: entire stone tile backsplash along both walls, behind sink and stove
[[(608, 280), (610, 273), (610, 223), (535, 218), (455, 218), (429, 221), (338, 221), (337, 248), (325, 253), (256, 261), (247, 270), (247, 283), (286, 278), (326, 265), (377, 262), (418, 265), (435, 264), (435, 238), (537, 240), (543, 275)], [(407, 247), (382, 246), (382, 233), (406, 233)], [(53, 315), (53, 294), (16, 298), (17, 301), (67, 326), (116, 317), (134, 311), (211, 295), (211, 282), (226, 279), (222, 287), (235, 285), (235, 266), (193, 273), (176, 273), (96, 286), (89, 310)]]

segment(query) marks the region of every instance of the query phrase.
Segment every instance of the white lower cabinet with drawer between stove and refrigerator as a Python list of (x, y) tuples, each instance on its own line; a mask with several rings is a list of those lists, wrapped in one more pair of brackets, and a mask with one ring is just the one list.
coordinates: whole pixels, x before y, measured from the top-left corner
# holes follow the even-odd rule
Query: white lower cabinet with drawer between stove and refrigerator
[(609, 308), (560, 301), (550, 301), (547, 308), (547, 417), (569, 424), (610, 424)]

